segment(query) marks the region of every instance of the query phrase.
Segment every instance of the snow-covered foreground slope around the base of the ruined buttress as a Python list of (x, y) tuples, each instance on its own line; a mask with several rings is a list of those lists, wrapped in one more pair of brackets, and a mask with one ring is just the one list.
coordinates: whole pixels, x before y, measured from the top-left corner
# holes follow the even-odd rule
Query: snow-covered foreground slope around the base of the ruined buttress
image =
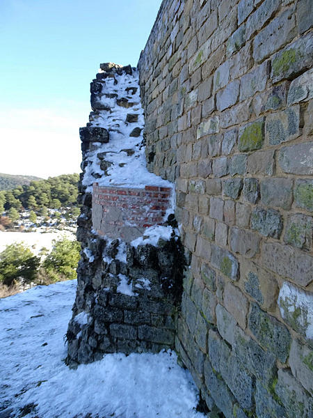
[(175, 353), (110, 354), (77, 370), (65, 366), (76, 286), (63, 281), (0, 300), (0, 417), (204, 418)]

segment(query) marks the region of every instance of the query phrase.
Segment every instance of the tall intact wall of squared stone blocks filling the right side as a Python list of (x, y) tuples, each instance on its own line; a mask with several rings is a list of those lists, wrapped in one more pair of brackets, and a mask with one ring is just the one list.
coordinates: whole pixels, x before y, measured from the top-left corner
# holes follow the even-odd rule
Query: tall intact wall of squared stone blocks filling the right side
[(313, 414), (312, 22), (310, 0), (164, 0), (138, 63), (191, 254), (176, 348), (225, 417)]

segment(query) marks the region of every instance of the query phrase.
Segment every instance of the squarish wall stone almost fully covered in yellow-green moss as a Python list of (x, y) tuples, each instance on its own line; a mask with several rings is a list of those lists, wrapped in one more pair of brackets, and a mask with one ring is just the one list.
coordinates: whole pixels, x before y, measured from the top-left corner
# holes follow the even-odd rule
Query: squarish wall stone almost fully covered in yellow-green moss
[(240, 151), (252, 151), (262, 148), (264, 142), (264, 118), (248, 123), (239, 131), (238, 147)]

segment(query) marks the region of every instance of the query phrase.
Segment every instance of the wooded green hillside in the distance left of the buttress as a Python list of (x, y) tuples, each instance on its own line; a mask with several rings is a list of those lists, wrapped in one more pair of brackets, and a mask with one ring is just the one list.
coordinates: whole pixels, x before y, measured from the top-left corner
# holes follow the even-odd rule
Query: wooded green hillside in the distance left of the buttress
[(30, 185), (19, 185), (14, 189), (0, 190), (0, 215), (10, 211), (10, 215), (23, 209), (59, 209), (77, 205), (79, 174), (63, 174), (47, 180), (31, 181)]

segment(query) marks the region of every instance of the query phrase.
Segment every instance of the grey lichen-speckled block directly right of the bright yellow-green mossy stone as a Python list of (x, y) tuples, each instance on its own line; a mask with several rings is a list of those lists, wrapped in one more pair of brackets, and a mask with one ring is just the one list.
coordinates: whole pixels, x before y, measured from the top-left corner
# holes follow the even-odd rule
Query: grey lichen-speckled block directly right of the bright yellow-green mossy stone
[(265, 139), (269, 145), (291, 141), (300, 135), (300, 107), (289, 107), (266, 117)]

